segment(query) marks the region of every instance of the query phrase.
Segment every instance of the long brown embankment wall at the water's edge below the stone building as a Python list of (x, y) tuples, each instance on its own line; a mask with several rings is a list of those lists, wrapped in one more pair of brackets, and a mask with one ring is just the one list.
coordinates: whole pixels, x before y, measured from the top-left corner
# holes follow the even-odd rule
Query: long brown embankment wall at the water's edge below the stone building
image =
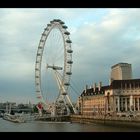
[(100, 123), (110, 126), (122, 126), (122, 127), (138, 127), (140, 128), (140, 118), (129, 118), (129, 117), (93, 117), (93, 116), (82, 116), (82, 115), (71, 115), (71, 122), (77, 123)]

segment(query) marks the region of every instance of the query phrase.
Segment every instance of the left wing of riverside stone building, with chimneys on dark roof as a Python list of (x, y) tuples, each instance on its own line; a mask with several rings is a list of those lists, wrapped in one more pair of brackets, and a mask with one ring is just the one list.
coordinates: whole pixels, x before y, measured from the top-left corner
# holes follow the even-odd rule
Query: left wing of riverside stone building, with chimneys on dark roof
[(103, 115), (105, 113), (105, 89), (101, 82), (98, 86), (96, 83), (93, 87), (86, 89), (79, 97), (79, 114), (82, 115)]

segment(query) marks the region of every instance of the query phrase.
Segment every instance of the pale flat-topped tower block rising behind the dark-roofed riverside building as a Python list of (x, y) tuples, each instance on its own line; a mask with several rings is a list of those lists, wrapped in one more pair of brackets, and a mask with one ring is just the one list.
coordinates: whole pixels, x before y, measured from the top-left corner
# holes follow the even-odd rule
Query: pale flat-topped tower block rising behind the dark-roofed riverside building
[(131, 64), (118, 63), (111, 67), (111, 82), (113, 80), (127, 80), (132, 79), (132, 68)]

